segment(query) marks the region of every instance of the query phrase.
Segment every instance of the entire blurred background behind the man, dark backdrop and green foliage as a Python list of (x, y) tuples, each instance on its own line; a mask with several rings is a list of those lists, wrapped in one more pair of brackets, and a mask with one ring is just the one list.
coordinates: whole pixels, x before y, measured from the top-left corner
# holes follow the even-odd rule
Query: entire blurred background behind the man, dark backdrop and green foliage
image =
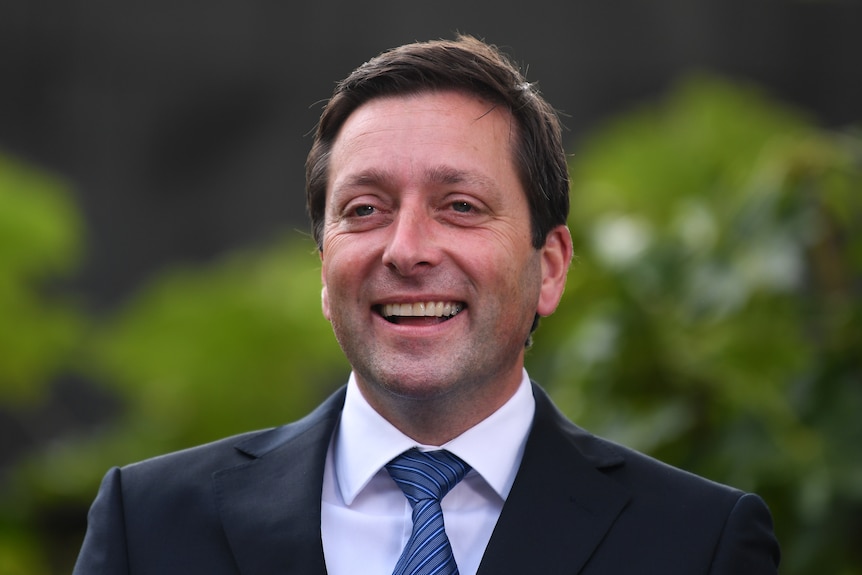
[[(344, 381), (310, 134), (363, 61), (458, 32), (521, 65), (574, 154), (582, 259), (531, 374), (594, 431), (763, 493), (787, 573), (862, 573), (860, 30), (826, 0), (0, 0), (0, 575), (68, 572), (108, 466)], [(702, 73), (759, 95), (678, 91)]]

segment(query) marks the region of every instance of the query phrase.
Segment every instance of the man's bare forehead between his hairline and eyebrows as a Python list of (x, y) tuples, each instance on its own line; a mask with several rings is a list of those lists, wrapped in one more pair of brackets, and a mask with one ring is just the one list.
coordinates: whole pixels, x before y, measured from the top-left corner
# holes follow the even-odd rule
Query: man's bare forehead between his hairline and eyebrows
[(514, 120), (507, 109), (461, 92), (380, 97), (345, 121), (331, 150), (331, 185), (357, 171), (450, 171), (510, 178)]

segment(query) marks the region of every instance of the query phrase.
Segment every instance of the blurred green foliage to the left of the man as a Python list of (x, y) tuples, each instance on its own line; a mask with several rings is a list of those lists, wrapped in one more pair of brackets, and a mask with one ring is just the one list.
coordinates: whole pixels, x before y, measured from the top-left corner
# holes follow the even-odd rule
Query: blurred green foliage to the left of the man
[(109, 467), (297, 419), (349, 366), (321, 316), (309, 238), (166, 270), (120, 309), (89, 317), (44, 289), (74, 271), (82, 242), (69, 190), (11, 160), (0, 166), (0, 407), (45, 400), (52, 377), (68, 373), (121, 405), (0, 476), (0, 575), (63, 573), (83, 532), (60, 523), (75, 514), (84, 527)]

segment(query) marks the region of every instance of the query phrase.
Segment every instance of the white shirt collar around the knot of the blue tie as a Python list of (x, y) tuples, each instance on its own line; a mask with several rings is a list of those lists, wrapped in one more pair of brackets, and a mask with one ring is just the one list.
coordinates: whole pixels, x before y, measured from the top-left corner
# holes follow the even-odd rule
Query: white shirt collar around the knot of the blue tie
[(524, 455), (535, 408), (530, 378), (523, 370), (520, 386), (497, 411), (445, 445), (420, 445), (371, 407), (351, 373), (333, 450), (342, 499), (350, 505), (383, 466), (404, 451), (442, 447), (467, 462), (505, 500)]

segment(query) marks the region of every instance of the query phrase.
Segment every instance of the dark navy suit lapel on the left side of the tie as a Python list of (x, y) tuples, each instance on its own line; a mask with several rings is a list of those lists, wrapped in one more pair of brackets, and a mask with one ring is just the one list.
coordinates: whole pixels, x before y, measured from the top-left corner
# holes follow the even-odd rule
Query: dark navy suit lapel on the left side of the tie
[(320, 490), (343, 390), (294, 424), (236, 446), (251, 459), (213, 475), (216, 505), (243, 575), (324, 575)]

